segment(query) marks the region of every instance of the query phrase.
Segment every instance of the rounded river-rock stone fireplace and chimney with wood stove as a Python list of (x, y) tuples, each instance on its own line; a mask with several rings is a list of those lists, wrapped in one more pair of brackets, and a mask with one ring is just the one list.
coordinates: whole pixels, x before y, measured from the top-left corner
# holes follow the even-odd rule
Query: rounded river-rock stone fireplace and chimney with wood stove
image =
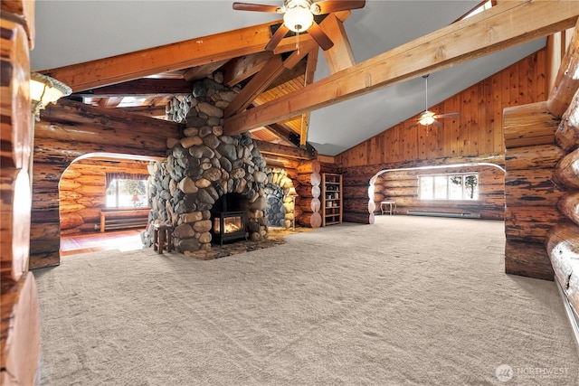
[[(223, 75), (216, 73), (195, 81), (191, 95), (167, 106), (167, 116), (184, 124), (183, 136), (167, 141), (165, 162), (148, 165), (151, 225), (142, 234), (145, 246), (151, 245), (152, 224), (167, 223), (177, 251), (211, 249), (212, 242), (230, 237), (221, 234), (227, 225), (223, 212), (236, 212), (228, 216), (230, 226), (242, 228), (235, 238), (267, 239), (271, 169), (249, 134), (223, 135), (223, 110), (239, 90), (224, 86)], [(223, 211), (223, 202), (232, 201), (243, 203)]]

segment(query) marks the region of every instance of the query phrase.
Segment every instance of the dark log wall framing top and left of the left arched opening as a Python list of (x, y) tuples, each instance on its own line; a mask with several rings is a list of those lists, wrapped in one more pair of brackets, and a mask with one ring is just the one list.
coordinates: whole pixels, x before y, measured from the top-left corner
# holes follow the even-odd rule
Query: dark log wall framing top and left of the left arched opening
[(60, 264), (59, 183), (73, 161), (102, 153), (161, 159), (167, 141), (178, 137), (176, 123), (115, 108), (61, 99), (43, 110), (34, 136), (30, 268)]

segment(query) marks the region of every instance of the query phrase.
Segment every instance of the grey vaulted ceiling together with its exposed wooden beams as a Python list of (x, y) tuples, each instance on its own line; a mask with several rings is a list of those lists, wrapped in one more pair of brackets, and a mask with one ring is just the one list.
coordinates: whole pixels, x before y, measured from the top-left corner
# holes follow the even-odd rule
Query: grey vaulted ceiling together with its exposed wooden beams
[[(225, 83), (242, 86), (228, 111), (235, 125), (251, 127), (253, 137), (269, 142), (289, 143), (292, 137), (307, 136), (319, 154), (337, 155), (419, 114), (425, 108), (424, 73), (431, 73), (432, 106), (545, 45), (544, 35), (528, 33), (527, 38), (517, 38), (520, 44), (508, 42), (474, 55), (461, 47), (461, 33), (468, 33), (469, 26), (457, 28), (452, 39), (432, 34), (479, 3), (370, 0), (362, 9), (331, 14), (320, 22), (336, 43), (331, 50), (322, 52), (302, 34), (299, 50), (295, 38), (286, 38), (275, 52), (267, 52), (264, 42), (280, 15), (233, 11), (228, 1), (40, 0), (31, 60), (33, 71), (70, 84), (85, 103), (153, 117), (164, 115), (167, 100), (190, 92), (193, 81), (220, 69)], [(491, 31), (492, 24), (487, 28)], [(429, 38), (420, 41), (427, 34)], [(436, 39), (444, 44), (438, 48), (444, 49), (442, 56), (446, 51), (462, 53), (449, 62), (436, 58), (436, 51), (429, 52), (429, 42)], [(474, 45), (473, 36), (468, 39), (467, 45)], [(479, 34), (479, 39), (489, 36)], [(393, 56), (397, 47), (405, 47), (407, 59), (400, 59), (403, 52)], [(424, 58), (416, 57), (416, 50), (422, 50)], [(388, 58), (404, 61), (408, 55), (414, 55), (415, 66), (383, 69), (375, 77), (380, 80), (373, 79), (381, 61), (388, 65)], [(365, 75), (356, 65), (363, 62), (373, 66)], [(340, 89), (335, 86), (338, 78), (340, 84), (352, 80), (357, 89)], [(366, 89), (358, 85), (364, 79)], [(321, 80), (327, 80), (326, 86)], [(310, 94), (304, 91), (308, 84)], [(299, 94), (299, 99), (272, 103), (286, 94)], [(324, 101), (316, 101), (322, 95)], [(242, 114), (245, 108), (263, 113), (250, 117), (247, 111)]]

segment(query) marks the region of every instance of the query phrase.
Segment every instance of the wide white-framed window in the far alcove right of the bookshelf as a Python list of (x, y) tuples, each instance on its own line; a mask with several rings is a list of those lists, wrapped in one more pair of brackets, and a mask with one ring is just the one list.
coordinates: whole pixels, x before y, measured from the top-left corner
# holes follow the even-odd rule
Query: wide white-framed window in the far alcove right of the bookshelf
[(477, 174), (435, 174), (418, 177), (421, 200), (478, 200)]

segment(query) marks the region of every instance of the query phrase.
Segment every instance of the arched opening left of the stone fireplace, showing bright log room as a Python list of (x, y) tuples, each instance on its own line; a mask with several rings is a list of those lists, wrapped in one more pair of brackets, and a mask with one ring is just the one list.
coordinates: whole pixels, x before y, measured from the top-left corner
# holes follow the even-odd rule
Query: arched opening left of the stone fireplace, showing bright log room
[(61, 253), (141, 249), (147, 228), (149, 161), (138, 155), (77, 157), (58, 184)]

